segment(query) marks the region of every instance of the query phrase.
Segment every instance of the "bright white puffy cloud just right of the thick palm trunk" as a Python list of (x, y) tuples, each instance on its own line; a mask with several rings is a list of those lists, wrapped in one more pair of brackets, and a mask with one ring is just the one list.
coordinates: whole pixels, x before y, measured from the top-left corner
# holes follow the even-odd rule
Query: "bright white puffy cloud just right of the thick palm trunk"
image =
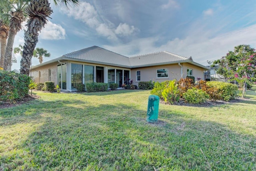
[(39, 36), (45, 40), (59, 40), (65, 39), (66, 32), (59, 24), (54, 24), (48, 21), (44, 28), (42, 28)]

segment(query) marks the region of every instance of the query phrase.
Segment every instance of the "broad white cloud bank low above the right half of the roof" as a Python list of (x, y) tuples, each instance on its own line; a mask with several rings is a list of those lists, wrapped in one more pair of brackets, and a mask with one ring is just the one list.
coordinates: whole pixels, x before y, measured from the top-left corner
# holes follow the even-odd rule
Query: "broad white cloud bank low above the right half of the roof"
[(184, 39), (175, 38), (161, 46), (155, 46), (159, 38), (143, 38), (133, 40), (128, 44), (104, 46), (108, 50), (126, 56), (148, 54), (152, 52), (168, 51), (185, 57), (192, 56), (195, 62), (207, 65), (207, 60), (217, 60), (225, 56), (234, 46), (249, 44), (256, 47), (256, 24), (240, 30), (219, 34), (209, 38), (206, 35), (189, 35)]

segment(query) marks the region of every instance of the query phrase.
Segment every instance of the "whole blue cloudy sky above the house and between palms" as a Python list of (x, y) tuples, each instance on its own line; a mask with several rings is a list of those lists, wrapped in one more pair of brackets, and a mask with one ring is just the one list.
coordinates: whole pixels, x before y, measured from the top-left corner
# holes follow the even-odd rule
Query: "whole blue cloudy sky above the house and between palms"
[[(124, 56), (168, 51), (207, 65), (239, 44), (256, 48), (255, 0), (80, 0), (68, 9), (51, 6), (52, 19), (37, 44), (51, 53), (44, 62), (95, 45)], [(23, 35), (17, 34), (14, 47), (24, 44)], [(20, 68), (16, 58), (12, 69)]]

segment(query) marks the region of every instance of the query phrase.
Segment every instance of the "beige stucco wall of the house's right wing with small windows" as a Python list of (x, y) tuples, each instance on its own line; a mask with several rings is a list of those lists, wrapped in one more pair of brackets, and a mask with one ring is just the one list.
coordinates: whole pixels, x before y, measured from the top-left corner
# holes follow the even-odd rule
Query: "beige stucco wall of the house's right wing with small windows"
[[(197, 77), (202, 78), (204, 77), (204, 69), (198, 66), (194, 66), (188, 63), (181, 63), (183, 66), (183, 78), (187, 76), (187, 68), (193, 70), (193, 76), (195, 79)], [(168, 68), (168, 78), (157, 78), (156, 70), (157, 69), (165, 69)], [(149, 80), (155, 82), (164, 82), (166, 80), (179, 80), (181, 78), (181, 67), (178, 64), (169, 64), (169, 65), (161, 65), (161, 66), (150, 66), (150, 67), (142, 67), (142, 68), (133, 68), (131, 70), (131, 79), (133, 80), (135, 85), (138, 85), (139, 81), (136, 81), (136, 71), (140, 71), (140, 81), (147, 82)]]

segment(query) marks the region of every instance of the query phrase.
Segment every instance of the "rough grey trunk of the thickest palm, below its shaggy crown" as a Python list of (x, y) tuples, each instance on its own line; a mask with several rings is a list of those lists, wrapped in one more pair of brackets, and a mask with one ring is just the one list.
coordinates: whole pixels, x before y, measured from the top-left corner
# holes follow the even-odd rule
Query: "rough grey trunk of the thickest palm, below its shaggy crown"
[(31, 59), (33, 56), (36, 43), (38, 42), (38, 33), (33, 32), (33, 28), (28, 28), (24, 32), (25, 44), (22, 52), (22, 59), (20, 61), (20, 74), (29, 76)]

